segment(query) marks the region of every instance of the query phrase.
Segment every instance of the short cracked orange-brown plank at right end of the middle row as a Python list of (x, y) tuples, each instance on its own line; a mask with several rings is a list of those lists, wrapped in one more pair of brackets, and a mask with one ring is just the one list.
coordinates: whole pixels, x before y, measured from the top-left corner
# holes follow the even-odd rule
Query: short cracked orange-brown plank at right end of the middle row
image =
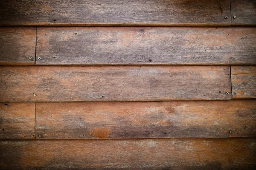
[(256, 66), (232, 66), (233, 99), (256, 98)]

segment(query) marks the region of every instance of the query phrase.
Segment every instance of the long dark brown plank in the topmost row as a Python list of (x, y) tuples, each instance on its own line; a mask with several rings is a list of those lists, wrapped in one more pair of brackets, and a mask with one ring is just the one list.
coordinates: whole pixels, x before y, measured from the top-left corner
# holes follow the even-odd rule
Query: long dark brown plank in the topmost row
[(1, 0), (0, 25), (230, 26), (230, 1)]

